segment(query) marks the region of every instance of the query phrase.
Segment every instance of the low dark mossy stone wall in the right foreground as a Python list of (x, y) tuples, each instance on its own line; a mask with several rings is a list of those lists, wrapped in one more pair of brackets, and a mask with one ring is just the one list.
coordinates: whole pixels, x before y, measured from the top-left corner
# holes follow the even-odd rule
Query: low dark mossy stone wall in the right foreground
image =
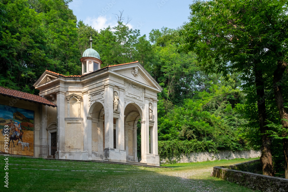
[[(256, 160), (257, 161), (257, 160)], [(259, 161), (259, 160), (258, 160)], [(248, 161), (245, 163), (253, 163)], [(244, 163), (242, 163), (244, 164)], [(237, 168), (240, 164), (232, 165), (231, 168)], [(213, 167), (214, 177), (233, 182), (244, 187), (248, 187), (252, 190), (260, 190), (267, 192), (287, 192), (288, 191), (288, 179), (280, 177), (272, 177), (267, 175), (260, 175), (251, 172), (244, 172), (238, 170), (232, 170), (223, 167)]]

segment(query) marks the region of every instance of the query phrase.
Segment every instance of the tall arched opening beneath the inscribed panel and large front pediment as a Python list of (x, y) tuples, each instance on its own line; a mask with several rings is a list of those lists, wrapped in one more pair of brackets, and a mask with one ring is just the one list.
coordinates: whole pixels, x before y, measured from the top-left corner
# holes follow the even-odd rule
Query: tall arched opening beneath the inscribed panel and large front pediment
[[(139, 148), (141, 149), (141, 123), (142, 123), (142, 110), (135, 103), (129, 103), (124, 110), (124, 130), (125, 130), (125, 150), (126, 150), (126, 160), (127, 161), (136, 161), (141, 159), (141, 153), (144, 151), (141, 150), (139, 153)], [(138, 131), (138, 134), (137, 134)], [(140, 132), (140, 133), (139, 133)], [(138, 138), (138, 145), (137, 145)], [(140, 146), (139, 146), (140, 145)], [(138, 146), (138, 150), (137, 150)], [(138, 151), (138, 155), (137, 155)]]

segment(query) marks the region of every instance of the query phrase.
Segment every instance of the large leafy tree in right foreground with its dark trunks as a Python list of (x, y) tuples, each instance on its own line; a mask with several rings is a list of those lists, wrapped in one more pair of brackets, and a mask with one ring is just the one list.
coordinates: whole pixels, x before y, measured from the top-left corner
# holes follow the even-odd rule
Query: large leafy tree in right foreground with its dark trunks
[[(255, 87), (263, 174), (274, 175), (268, 132), (266, 94), (274, 89), (282, 127), (287, 130), (283, 74), (287, 55), (287, 1), (197, 1), (190, 22), (179, 30), (179, 50), (194, 51), (207, 72), (242, 73), (242, 89)], [(268, 77), (268, 78), (267, 78)], [(272, 77), (272, 78), (270, 78)], [(272, 80), (273, 79), (273, 80)], [(266, 81), (271, 87), (265, 89)], [(288, 137), (282, 135), (285, 177), (288, 178)]]

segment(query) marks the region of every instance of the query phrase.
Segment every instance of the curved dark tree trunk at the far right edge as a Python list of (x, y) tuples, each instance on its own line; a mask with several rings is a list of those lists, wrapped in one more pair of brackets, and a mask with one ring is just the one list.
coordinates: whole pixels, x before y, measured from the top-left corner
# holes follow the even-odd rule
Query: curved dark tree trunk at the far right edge
[[(273, 77), (273, 88), (274, 88), (274, 95), (275, 95), (275, 101), (276, 105), (279, 111), (281, 124), (283, 129), (288, 128), (288, 114), (286, 112), (286, 109), (284, 107), (284, 100), (282, 95), (282, 88), (281, 83), (284, 80), (283, 74), (287, 68), (287, 63), (283, 60), (277, 60), (277, 69), (274, 71), (274, 77)], [(283, 120), (284, 119), (284, 120)], [(282, 135), (282, 137), (286, 137), (287, 135)], [(288, 140), (283, 139), (283, 151), (284, 151), (284, 159), (285, 159), (285, 178), (288, 179)]]

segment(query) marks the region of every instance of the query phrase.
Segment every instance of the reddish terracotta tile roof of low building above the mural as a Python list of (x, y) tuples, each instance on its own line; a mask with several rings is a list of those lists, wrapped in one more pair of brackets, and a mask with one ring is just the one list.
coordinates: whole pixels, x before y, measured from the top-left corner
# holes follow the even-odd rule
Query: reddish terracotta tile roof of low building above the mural
[(8, 96), (8, 97), (14, 97), (14, 98), (22, 99), (25, 101), (31, 101), (31, 102), (40, 103), (43, 105), (52, 106), (52, 107), (57, 107), (57, 105), (55, 105), (54, 103), (48, 101), (47, 99), (45, 99), (41, 96), (33, 95), (30, 93), (24, 93), (22, 91), (6, 89), (3, 87), (0, 87), (0, 95)]

